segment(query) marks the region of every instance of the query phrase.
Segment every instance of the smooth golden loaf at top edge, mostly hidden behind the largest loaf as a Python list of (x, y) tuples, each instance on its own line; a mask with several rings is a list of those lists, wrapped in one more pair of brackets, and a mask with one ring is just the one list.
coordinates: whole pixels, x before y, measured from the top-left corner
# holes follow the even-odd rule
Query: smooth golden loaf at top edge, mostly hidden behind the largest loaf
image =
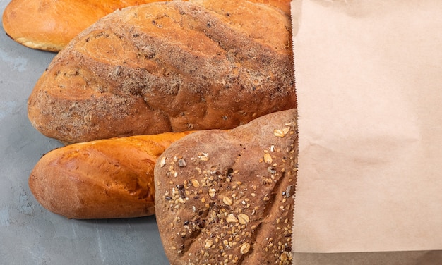
[[(3, 13), (3, 27), (20, 44), (59, 51), (103, 16), (127, 6), (154, 1), (158, 0), (12, 0)], [(289, 13), (288, 0), (252, 1), (276, 6)]]

